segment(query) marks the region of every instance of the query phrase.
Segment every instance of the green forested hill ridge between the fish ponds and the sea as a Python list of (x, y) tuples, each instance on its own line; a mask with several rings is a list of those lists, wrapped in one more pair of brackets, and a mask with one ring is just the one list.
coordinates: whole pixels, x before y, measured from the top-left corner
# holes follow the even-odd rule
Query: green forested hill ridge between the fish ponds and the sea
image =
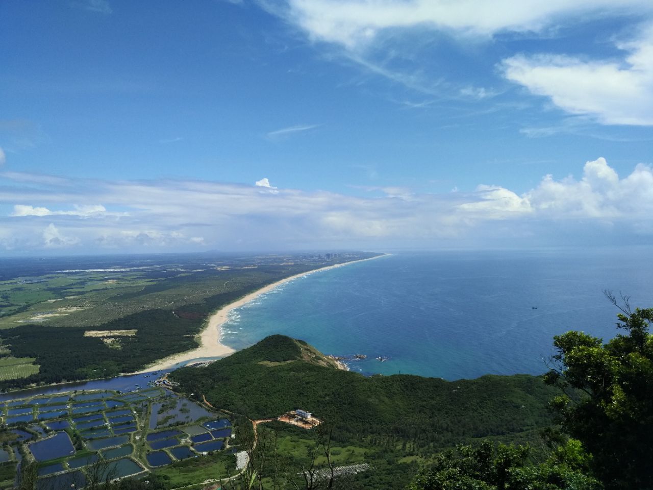
[[(310, 354), (309, 354), (310, 353)], [(447, 382), (394, 375), (366, 378), (325, 367), (323, 355), (300, 340), (274, 335), (204, 368), (170, 378), (187, 393), (252, 419), (310, 410), (336, 423), (340, 442), (366, 441), (415, 450), (445, 448), (471, 438), (537, 439), (551, 423), (557, 394), (540, 377), (483, 376)]]

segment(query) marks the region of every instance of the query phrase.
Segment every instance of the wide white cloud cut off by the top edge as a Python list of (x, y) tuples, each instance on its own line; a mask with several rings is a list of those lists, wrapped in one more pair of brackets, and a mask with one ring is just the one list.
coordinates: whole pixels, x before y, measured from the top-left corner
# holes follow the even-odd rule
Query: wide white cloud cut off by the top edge
[(316, 41), (349, 50), (374, 43), (380, 31), (437, 29), (490, 36), (501, 31), (539, 31), (571, 16), (651, 10), (648, 0), (287, 0), (285, 8), (261, 0)]

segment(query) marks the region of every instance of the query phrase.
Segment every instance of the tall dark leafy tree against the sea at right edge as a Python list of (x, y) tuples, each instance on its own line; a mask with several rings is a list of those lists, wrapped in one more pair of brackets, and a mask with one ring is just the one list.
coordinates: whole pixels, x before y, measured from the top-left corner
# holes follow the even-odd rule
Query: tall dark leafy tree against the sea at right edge
[(607, 489), (653, 488), (653, 308), (634, 311), (628, 297), (605, 295), (621, 313), (619, 334), (600, 338), (571, 331), (554, 338), (556, 355), (546, 376), (564, 395), (552, 402), (562, 426), (593, 458)]

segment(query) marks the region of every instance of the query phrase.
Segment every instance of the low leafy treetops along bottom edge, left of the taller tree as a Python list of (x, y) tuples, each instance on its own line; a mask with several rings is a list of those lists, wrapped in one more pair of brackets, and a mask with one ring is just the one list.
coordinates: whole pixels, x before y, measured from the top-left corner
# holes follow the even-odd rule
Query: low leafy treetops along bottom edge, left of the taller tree
[[(496, 448), (485, 440), (479, 446), (458, 446), (436, 455), (422, 468), (408, 490), (599, 490), (601, 485), (583, 471), (577, 442), (562, 447), (546, 463), (526, 465), (528, 446)], [(578, 447), (575, 447), (578, 446)]]

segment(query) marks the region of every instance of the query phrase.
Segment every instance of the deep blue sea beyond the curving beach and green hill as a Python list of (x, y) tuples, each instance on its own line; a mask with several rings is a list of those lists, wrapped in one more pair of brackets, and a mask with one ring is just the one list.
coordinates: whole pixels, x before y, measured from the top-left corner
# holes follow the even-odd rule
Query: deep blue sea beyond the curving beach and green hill
[(396, 253), (277, 287), (232, 310), (222, 341), (241, 349), (281, 333), (367, 355), (348, 363), (364, 374), (540, 374), (554, 335), (618, 333), (603, 289), (653, 306), (652, 272), (651, 248)]

